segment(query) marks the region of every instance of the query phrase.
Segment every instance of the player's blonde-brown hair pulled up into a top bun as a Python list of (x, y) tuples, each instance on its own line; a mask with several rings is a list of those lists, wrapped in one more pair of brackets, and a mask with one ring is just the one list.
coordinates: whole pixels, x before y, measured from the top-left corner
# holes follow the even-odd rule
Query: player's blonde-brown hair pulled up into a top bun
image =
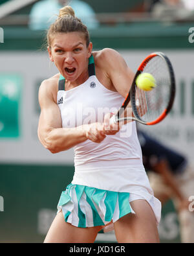
[(47, 32), (47, 44), (51, 47), (52, 36), (56, 33), (81, 32), (83, 33), (87, 47), (90, 38), (87, 27), (81, 22), (81, 19), (75, 16), (74, 10), (70, 6), (64, 6), (59, 10), (58, 19), (50, 25)]

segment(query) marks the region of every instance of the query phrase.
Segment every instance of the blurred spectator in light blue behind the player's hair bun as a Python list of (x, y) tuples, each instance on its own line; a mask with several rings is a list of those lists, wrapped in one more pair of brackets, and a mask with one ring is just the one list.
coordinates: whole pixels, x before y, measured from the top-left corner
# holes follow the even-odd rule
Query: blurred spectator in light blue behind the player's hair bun
[(48, 29), (51, 23), (53, 23), (59, 9), (66, 5), (72, 6), (74, 12), (78, 18), (88, 27), (88, 29), (96, 29), (99, 23), (95, 17), (94, 10), (91, 6), (81, 0), (42, 0), (35, 3), (30, 11), (29, 27), (32, 30), (45, 30)]

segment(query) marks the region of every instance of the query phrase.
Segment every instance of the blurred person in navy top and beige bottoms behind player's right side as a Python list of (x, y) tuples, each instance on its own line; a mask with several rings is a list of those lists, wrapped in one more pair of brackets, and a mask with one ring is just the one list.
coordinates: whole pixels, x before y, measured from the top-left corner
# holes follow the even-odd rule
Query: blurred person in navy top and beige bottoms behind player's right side
[[(170, 198), (178, 213), (182, 242), (194, 242), (194, 169), (186, 157), (138, 130), (144, 167), (156, 198), (162, 204)], [(193, 198), (192, 198), (193, 200)], [(191, 208), (191, 209), (190, 209)]]

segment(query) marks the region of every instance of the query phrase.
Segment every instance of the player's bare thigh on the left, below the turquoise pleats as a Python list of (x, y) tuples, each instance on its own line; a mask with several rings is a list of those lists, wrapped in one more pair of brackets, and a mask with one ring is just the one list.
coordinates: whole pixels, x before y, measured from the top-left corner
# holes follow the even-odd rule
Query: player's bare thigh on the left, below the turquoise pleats
[(50, 229), (48, 230), (45, 238), (45, 243), (88, 243), (94, 242), (98, 232), (102, 229), (101, 226), (97, 227), (75, 227), (65, 222), (63, 213), (60, 211)]

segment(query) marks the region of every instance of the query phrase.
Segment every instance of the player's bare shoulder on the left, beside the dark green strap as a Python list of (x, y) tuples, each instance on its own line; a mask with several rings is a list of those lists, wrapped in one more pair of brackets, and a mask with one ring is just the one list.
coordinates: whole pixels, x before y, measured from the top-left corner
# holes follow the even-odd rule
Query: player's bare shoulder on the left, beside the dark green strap
[(59, 75), (60, 74), (58, 73), (41, 82), (41, 85), (39, 87), (39, 103), (40, 104), (41, 102), (47, 99), (57, 102)]

